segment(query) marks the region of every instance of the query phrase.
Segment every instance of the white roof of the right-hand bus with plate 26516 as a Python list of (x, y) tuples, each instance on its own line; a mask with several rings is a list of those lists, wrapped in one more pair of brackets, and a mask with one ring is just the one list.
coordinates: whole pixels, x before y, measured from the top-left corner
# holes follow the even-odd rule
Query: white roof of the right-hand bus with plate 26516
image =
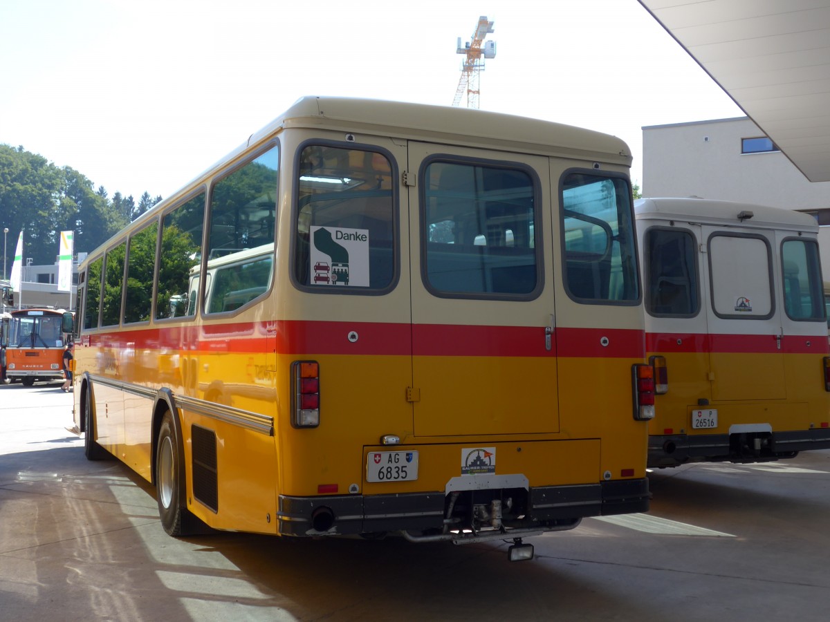
[[(752, 217), (741, 222), (738, 219), (741, 211), (751, 211)], [(637, 220), (680, 220), (699, 224), (762, 226), (818, 232), (818, 223), (809, 214), (735, 201), (695, 197), (642, 198), (634, 202), (634, 212)]]

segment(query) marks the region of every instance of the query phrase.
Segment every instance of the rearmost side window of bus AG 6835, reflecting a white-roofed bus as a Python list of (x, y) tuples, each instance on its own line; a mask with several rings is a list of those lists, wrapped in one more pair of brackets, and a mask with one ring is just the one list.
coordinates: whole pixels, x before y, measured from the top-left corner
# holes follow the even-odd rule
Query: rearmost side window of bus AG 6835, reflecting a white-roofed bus
[(271, 288), (279, 159), (273, 147), (213, 186), (205, 313), (234, 311)]

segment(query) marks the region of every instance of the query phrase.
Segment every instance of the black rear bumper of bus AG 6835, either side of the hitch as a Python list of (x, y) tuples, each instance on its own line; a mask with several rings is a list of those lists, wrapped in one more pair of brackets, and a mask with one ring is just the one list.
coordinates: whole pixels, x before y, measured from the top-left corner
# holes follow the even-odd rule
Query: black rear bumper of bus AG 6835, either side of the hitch
[[(648, 510), (648, 480), (625, 479), (574, 486), (530, 488), (527, 526), (539, 531), (561, 529), (562, 523), (590, 516)], [(343, 495), (325, 497), (280, 496), (278, 532), (284, 536), (348, 535), (373, 532), (442, 530), (447, 498), (442, 492)], [(330, 512), (333, 523), (320, 531), (314, 517)], [(509, 537), (510, 529), (507, 530)]]

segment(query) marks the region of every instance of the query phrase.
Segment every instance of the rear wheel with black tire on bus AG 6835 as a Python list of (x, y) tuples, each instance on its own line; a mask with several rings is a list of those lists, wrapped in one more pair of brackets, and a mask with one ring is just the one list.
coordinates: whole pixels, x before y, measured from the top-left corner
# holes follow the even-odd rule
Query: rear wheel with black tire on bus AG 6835
[(197, 519), (185, 506), (184, 465), (176, 427), (170, 411), (164, 413), (156, 442), (156, 501), (159, 518), (169, 536), (188, 536), (195, 532)]

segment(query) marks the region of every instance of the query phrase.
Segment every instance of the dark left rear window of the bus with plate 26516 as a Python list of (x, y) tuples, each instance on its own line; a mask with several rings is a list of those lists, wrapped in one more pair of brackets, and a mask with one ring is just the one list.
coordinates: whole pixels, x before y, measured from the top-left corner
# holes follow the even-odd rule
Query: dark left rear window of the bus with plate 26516
[(646, 309), (652, 315), (697, 313), (695, 237), (691, 231), (649, 229), (642, 260), (646, 262)]

